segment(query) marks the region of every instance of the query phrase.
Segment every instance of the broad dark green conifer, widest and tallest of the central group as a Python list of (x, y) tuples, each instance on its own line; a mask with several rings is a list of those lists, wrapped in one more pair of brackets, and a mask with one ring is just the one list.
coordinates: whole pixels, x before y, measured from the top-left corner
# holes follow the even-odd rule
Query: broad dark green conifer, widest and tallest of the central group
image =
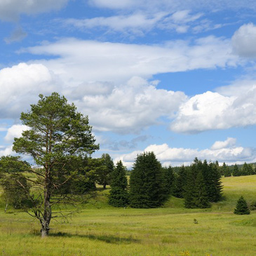
[(164, 198), (161, 163), (154, 152), (137, 155), (130, 174), (130, 206), (156, 208), (161, 206)]

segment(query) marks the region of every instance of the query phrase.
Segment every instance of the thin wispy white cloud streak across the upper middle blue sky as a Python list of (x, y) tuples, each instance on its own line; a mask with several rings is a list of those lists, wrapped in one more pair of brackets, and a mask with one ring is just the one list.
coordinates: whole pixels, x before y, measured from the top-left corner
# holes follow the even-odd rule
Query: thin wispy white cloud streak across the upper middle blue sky
[(144, 12), (129, 13), (128, 15), (114, 15), (110, 17), (86, 18), (83, 20), (69, 18), (60, 20), (66, 26), (73, 26), (82, 30), (101, 28), (105, 33), (122, 32), (122, 36), (136, 34), (143, 36), (151, 29), (176, 30), (178, 33), (187, 32), (190, 27), (201, 26), (202, 13), (191, 14), (191, 11), (177, 11), (168, 13), (160, 11), (153, 14)]

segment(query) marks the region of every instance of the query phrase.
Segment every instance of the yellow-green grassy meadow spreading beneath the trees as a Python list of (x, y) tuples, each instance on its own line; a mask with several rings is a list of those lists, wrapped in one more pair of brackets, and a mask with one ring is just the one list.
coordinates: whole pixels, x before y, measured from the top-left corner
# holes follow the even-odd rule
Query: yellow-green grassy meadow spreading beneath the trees
[[(0, 210), (0, 255), (256, 255), (256, 211), (234, 215), (236, 201), (256, 200), (256, 175), (223, 178), (225, 200), (207, 210), (112, 208), (103, 192), (48, 238), (25, 213)], [(195, 222), (198, 222), (197, 224)]]

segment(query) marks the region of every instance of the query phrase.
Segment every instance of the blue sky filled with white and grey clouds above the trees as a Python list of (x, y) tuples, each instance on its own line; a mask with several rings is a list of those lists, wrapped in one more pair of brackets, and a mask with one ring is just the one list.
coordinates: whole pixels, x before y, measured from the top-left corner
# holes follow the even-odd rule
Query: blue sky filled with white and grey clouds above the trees
[(131, 168), (256, 161), (256, 1), (0, 1), (0, 156), (58, 92)]

